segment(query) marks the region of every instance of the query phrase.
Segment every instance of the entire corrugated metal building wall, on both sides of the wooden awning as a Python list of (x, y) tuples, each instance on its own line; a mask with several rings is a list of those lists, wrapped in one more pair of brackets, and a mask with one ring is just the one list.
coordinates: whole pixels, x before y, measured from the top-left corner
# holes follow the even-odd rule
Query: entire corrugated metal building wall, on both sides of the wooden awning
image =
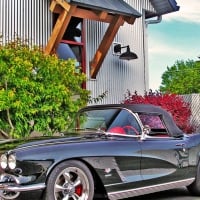
[[(144, 9), (153, 10), (150, 0), (125, 0), (140, 13)], [(44, 46), (52, 32), (52, 13), (49, 11), (50, 0), (0, 0), (0, 35), (11, 40), (14, 35), (29, 39), (34, 44)], [(114, 42), (130, 45), (138, 59), (123, 61), (113, 55), (111, 46), (97, 78), (89, 76), (89, 61), (105, 33), (107, 24), (96, 21), (86, 22), (86, 68), (87, 89), (92, 97), (107, 91), (108, 95), (100, 103), (120, 103), (127, 90), (143, 93), (148, 90), (148, 66), (144, 17), (138, 18), (134, 25), (122, 26)]]

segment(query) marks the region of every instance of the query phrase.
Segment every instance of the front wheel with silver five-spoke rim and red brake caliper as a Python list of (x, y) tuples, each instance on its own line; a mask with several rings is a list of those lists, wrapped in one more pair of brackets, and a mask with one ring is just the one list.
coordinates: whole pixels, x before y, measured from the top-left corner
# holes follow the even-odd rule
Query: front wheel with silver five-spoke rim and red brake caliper
[(45, 200), (93, 200), (94, 180), (88, 167), (77, 160), (65, 161), (51, 172)]

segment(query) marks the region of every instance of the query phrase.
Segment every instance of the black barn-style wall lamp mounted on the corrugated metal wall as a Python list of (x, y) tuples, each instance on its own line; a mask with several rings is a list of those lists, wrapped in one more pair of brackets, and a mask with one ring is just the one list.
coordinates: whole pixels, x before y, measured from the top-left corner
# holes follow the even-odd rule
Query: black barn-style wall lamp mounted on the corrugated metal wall
[[(126, 48), (126, 52), (121, 53), (121, 49)], [(122, 47), (121, 44), (116, 44), (114, 46), (114, 52), (115, 53), (120, 53), (121, 55), (119, 56), (119, 59), (122, 60), (132, 60), (132, 59), (137, 59), (138, 56), (130, 51), (129, 45)]]

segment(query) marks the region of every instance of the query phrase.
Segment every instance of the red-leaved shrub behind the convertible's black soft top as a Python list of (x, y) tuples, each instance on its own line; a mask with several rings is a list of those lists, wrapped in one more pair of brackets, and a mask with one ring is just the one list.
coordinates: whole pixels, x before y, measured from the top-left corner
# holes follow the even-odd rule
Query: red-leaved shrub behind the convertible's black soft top
[(138, 95), (137, 92), (131, 94), (127, 92), (124, 104), (152, 104), (160, 106), (167, 110), (173, 116), (177, 126), (186, 133), (191, 133), (193, 127), (190, 125), (191, 110), (189, 104), (183, 98), (176, 94), (162, 94), (159, 92), (146, 93), (144, 96)]

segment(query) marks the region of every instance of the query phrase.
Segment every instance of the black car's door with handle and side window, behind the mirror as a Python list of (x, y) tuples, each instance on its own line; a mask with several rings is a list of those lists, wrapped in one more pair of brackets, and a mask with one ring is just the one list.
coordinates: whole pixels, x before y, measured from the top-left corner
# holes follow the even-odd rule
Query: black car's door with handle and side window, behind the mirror
[[(147, 117), (145, 117), (147, 118)], [(189, 177), (189, 148), (184, 136), (172, 137), (160, 116), (151, 116), (151, 132), (141, 140), (143, 186), (163, 184)], [(144, 122), (143, 122), (144, 123)]]

